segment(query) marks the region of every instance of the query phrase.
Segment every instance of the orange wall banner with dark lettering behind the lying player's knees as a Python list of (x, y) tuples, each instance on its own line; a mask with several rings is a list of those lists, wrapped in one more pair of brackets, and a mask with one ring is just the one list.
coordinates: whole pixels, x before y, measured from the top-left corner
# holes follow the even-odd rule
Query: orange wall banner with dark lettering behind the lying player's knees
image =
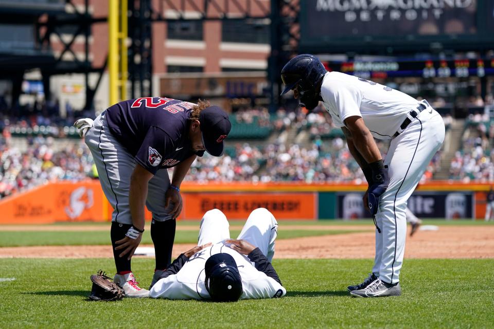
[(315, 220), (316, 193), (183, 193), (184, 220), (200, 220), (204, 213), (219, 209), (229, 220), (246, 220), (257, 208), (266, 208), (284, 220)]

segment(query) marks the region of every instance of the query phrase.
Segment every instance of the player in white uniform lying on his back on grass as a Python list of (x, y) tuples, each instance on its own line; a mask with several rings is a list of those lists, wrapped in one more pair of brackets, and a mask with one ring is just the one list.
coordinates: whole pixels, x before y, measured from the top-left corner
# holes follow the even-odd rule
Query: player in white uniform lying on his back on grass
[(198, 246), (162, 273), (149, 296), (224, 302), (285, 296), (287, 290), (271, 265), (277, 227), (274, 216), (258, 208), (232, 240), (226, 216), (218, 209), (206, 212)]

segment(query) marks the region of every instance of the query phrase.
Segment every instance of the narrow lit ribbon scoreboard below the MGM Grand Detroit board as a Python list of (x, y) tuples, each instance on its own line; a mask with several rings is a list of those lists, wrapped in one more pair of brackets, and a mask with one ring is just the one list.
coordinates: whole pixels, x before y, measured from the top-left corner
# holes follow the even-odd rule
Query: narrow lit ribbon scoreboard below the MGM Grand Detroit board
[(468, 78), (494, 75), (494, 59), (326, 61), (328, 71), (340, 71), (361, 78)]

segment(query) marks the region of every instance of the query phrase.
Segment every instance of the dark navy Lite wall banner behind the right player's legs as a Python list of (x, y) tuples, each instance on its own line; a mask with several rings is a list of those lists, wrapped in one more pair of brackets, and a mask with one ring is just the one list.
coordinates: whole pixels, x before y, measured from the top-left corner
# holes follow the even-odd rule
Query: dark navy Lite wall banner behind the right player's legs
[[(337, 218), (346, 220), (370, 217), (364, 208), (363, 193), (338, 193)], [(415, 192), (408, 200), (409, 209), (424, 218), (472, 218), (472, 192)]]

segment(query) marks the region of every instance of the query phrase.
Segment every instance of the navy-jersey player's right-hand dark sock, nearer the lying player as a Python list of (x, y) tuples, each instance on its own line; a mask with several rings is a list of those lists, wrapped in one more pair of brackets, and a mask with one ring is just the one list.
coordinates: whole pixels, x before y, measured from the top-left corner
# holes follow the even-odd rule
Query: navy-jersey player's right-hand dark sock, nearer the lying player
[(175, 240), (175, 227), (177, 221), (168, 220), (151, 222), (151, 239), (154, 243), (154, 253), (156, 257), (156, 268), (166, 269), (171, 264), (171, 251)]

